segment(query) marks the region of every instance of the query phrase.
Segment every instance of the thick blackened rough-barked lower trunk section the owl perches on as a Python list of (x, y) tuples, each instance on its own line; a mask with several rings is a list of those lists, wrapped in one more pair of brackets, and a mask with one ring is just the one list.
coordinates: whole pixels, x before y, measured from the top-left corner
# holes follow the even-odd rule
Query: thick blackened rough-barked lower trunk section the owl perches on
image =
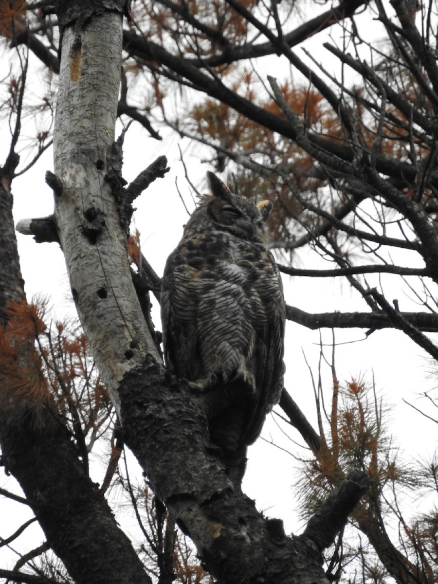
[(232, 489), (209, 442), (199, 397), (163, 381), (150, 357), (123, 378), (124, 439), (208, 571), (227, 584), (325, 583), (314, 547), (291, 540), (281, 521), (266, 519)]

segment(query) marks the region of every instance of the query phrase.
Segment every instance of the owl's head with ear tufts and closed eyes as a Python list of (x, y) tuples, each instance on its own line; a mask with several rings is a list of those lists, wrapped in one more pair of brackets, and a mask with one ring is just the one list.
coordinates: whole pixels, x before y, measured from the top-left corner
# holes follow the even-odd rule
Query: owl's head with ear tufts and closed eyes
[(212, 227), (228, 231), (249, 241), (265, 241), (265, 221), (272, 210), (271, 201), (255, 203), (230, 189), (213, 172), (207, 172), (211, 196), (206, 197), (193, 213), (205, 212)]

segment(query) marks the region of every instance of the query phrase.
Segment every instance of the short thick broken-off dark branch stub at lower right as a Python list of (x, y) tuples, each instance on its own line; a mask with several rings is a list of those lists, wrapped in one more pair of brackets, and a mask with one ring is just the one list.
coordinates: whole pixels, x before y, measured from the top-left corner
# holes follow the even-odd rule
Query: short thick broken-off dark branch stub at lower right
[(319, 552), (329, 547), (370, 485), (371, 479), (366, 472), (350, 472), (311, 517), (300, 539), (311, 540)]

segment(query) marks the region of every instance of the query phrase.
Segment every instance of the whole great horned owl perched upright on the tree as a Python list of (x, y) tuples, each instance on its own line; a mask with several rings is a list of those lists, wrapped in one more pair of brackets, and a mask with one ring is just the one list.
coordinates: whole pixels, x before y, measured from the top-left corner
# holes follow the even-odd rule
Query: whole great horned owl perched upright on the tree
[(166, 364), (207, 403), (211, 439), (239, 485), (283, 388), (284, 299), (265, 244), (270, 201), (230, 192), (208, 173), (211, 196), (188, 221), (162, 280)]

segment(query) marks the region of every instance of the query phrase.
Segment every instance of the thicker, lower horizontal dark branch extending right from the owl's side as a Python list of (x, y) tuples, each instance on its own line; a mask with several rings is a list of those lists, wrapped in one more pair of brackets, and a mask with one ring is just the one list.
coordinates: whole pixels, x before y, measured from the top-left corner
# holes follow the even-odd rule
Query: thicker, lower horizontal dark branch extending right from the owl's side
[[(399, 315), (419, 331), (438, 332), (438, 314), (434, 312), (400, 312)], [(286, 318), (312, 330), (318, 328), (363, 328), (371, 331), (384, 328), (402, 329), (401, 323), (391, 321), (385, 311), (310, 314), (300, 308), (286, 306)]]

